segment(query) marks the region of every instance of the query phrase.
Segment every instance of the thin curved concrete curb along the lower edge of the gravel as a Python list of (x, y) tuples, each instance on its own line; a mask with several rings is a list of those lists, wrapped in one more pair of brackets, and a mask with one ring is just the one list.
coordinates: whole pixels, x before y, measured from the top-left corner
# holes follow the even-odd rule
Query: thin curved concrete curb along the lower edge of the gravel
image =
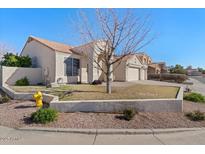
[(187, 131), (205, 131), (205, 127), (197, 128), (166, 128), (166, 129), (73, 129), (73, 128), (46, 128), (46, 127), (22, 127), (20, 131), (45, 131), (60, 133), (79, 133), (79, 134), (166, 134)]

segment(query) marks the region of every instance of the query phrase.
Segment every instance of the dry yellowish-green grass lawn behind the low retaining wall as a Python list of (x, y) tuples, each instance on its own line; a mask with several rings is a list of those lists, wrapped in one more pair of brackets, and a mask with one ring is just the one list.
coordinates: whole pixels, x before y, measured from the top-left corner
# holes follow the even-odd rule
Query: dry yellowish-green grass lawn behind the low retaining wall
[(105, 93), (101, 85), (77, 84), (62, 85), (57, 88), (45, 86), (11, 86), (17, 92), (35, 92), (59, 96), (60, 100), (108, 100), (108, 99), (150, 99), (150, 98), (176, 98), (179, 88), (135, 84), (129, 87), (113, 87), (112, 94)]

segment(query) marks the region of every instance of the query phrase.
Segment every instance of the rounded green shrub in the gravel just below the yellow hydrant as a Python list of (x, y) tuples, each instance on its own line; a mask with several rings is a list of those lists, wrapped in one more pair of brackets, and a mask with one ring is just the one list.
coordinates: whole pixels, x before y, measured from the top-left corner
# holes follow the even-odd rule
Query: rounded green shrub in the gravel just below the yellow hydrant
[(56, 120), (58, 112), (51, 108), (41, 108), (31, 114), (31, 120), (35, 123), (46, 124)]

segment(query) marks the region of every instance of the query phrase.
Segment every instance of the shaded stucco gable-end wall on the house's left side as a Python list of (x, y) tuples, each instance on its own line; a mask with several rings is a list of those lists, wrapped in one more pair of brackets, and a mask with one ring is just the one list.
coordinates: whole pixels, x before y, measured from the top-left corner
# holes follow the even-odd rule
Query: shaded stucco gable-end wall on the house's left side
[(42, 78), (45, 82), (44, 72), (48, 72), (50, 82), (55, 82), (55, 52), (33, 40), (26, 44), (21, 55), (29, 55), (37, 59), (37, 67), (42, 68)]

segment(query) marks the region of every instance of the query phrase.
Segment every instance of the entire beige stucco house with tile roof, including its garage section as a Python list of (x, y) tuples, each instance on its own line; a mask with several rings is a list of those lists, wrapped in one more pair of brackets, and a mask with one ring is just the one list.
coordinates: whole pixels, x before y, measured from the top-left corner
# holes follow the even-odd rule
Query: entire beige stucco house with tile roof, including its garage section
[[(44, 83), (92, 83), (94, 80), (105, 81), (105, 75), (99, 68), (104, 64), (97, 48), (103, 47), (103, 44), (103, 41), (94, 41), (72, 47), (30, 36), (21, 55), (30, 56), (32, 67), (42, 69)], [(112, 74), (112, 80), (115, 81), (146, 79), (147, 65), (142, 64), (137, 55), (124, 58)]]

